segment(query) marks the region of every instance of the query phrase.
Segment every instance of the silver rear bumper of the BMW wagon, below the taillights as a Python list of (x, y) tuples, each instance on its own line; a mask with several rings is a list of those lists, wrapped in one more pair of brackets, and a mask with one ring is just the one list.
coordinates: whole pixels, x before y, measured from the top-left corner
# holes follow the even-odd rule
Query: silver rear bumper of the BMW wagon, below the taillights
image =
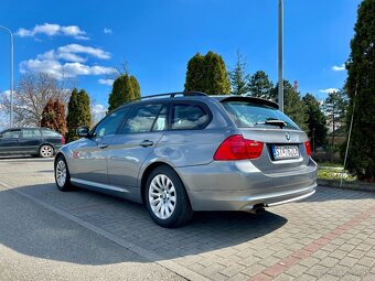
[(312, 160), (293, 172), (268, 175), (249, 162), (239, 162), (178, 170), (194, 210), (251, 210), (303, 199), (315, 192), (318, 174)]

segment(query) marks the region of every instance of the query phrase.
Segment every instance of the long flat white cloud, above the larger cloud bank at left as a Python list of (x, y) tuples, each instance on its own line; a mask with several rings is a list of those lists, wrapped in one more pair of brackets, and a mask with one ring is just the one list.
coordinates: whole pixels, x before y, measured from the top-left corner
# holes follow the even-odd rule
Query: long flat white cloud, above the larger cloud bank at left
[(20, 37), (33, 37), (36, 34), (44, 34), (47, 36), (65, 35), (75, 37), (77, 40), (89, 39), (86, 36), (86, 32), (81, 30), (77, 25), (62, 26), (56, 23), (36, 24), (33, 29), (30, 30), (21, 28), (18, 30), (18, 32), (15, 32), (15, 35)]

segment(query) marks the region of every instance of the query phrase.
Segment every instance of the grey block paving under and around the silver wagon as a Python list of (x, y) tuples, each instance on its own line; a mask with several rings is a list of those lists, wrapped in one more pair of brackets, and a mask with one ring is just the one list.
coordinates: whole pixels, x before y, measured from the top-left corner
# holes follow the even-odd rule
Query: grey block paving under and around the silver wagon
[(186, 227), (164, 229), (142, 205), (84, 190), (58, 192), (51, 159), (0, 159), (6, 192), (185, 279), (375, 280), (374, 193), (319, 187), (307, 201), (261, 215), (199, 213)]

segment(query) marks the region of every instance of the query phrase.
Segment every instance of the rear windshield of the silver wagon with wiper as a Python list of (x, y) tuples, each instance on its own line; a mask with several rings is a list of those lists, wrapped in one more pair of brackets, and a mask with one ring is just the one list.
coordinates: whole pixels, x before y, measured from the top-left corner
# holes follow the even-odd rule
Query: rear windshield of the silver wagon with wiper
[(282, 120), (287, 129), (300, 128), (280, 110), (267, 105), (257, 105), (249, 101), (223, 101), (222, 105), (238, 128), (280, 128), (277, 125), (266, 123), (270, 120)]

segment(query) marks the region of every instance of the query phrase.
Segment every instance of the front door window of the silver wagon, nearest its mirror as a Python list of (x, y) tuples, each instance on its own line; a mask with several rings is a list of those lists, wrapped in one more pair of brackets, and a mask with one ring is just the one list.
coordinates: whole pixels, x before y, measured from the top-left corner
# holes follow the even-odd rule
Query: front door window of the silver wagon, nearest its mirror
[(94, 129), (95, 137), (103, 137), (108, 134), (115, 134), (117, 128), (122, 123), (124, 119), (126, 118), (129, 108), (122, 108), (111, 112), (105, 119), (103, 119)]

